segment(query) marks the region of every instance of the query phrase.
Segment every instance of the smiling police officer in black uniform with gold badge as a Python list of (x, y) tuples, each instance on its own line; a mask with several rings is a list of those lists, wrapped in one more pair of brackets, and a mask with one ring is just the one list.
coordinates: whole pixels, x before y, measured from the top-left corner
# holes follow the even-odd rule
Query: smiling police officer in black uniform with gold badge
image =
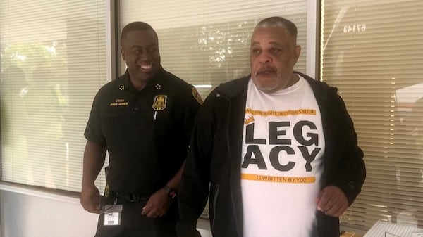
[[(147, 23), (123, 28), (121, 55), (128, 70), (99, 89), (85, 129), (80, 201), (101, 213), (97, 237), (176, 236), (175, 198), (202, 100), (161, 67), (157, 33)], [(94, 181), (106, 152), (100, 198)]]

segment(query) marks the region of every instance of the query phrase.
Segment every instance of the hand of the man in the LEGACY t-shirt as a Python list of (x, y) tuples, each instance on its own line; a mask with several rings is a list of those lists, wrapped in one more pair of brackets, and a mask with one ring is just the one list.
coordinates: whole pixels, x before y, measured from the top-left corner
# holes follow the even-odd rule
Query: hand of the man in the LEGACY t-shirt
[(345, 193), (337, 186), (327, 186), (316, 198), (317, 210), (331, 217), (339, 217), (348, 208)]

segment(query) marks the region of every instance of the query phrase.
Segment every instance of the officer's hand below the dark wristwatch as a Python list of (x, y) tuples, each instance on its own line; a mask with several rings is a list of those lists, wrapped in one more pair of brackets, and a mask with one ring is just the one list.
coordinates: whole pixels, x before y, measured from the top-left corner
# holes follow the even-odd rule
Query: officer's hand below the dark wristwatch
[(142, 207), (141, 214), (146, 214), (147, 217), (163, 217), (171, 206), (171, 198), (166, 191), (161, 188), (156, 193), (149, 197), (147, 204)]

